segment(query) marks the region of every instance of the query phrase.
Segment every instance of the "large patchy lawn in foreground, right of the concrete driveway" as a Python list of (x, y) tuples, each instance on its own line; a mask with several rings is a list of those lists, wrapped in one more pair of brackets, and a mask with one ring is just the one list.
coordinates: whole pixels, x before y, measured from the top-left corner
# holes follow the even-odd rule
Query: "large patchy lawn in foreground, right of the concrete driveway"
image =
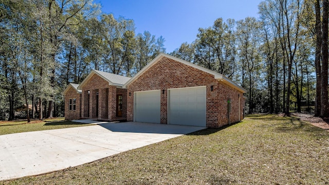
[(252, 115), (45, 175), (0, 184), (327, 184), (329, 132)]

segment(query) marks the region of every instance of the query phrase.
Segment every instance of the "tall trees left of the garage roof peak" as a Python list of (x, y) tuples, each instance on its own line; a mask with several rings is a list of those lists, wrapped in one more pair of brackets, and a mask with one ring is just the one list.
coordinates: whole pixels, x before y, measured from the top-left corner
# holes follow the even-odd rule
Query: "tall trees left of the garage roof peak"
[(136, 34), (133, 20), (92, 0), (0, 0), (0, 38), (0, 117), (9, 120), (22, 105), (28, 121), (63, 116), (68, 83), (92, 69), (131, 77), (166, 52), (162, 36)]

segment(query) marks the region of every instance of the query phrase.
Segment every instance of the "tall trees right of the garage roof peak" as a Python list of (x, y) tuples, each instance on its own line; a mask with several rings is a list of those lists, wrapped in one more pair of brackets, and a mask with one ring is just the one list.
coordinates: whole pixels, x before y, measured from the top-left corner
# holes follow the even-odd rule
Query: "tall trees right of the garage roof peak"
[(328, 117), (328, 1), (266, 0), (258, 8), (259, 18), (217, 18), (171, 54), (244, 87), (249, 114)]

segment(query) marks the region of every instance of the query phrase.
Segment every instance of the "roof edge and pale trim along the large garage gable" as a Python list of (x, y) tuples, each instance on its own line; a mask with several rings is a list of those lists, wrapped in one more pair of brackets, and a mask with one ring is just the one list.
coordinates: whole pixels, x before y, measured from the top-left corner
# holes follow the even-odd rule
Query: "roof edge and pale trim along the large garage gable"
[(204, 67), (201, 67), (201, 66), (198, 66), (196, 64), (193, 64), (191, 62), (187, 62), (185, 60), (181, 60), (181, 59), (178, 59), (176, 57), (173, 57), (172, 55), (169, 55), (169, 54), (165, 54), (165, 53), (160, 53), (159, 55), (157, 55), (156, 58), (154, 58), (148, 65), (146, 65), (144, 68), (142, 68), (133, 78), (131, 78), (130, 80), (128, 80), (124, 85), (123, 85), (123, 88), (126, 88), (128, 85), (130, 85), (131, 83), (133, 83), (139, 76), (141, 76), (145, 71), (147, 71), (149, 68), (151, 68), (155, 63), (157, 63), (160, 59), (162, 59), (162, 57), (166, 57), (166, 58), (169, 58), (169, 59), (172, 59), (172, 60), (175, 60), (177, 62), (180, 62), (182, 64), (185, 64), (185, 65), (188, 65), (188, 66), (191, 66), (191, 67), (194, 67), (196, 69), (199, 69), (199, 70), (202, 70), (204, 72), (207, 72), (209, 73), (210, 75), (213, 75), (214, 78), (216, 80), (220, 80), (222, 82), (224, 82), (225, 84), (241, 91), (242, 93), (246, 93), (247, 90), (244, 89), (243, 87), (241, 87), (240, 85), (237, 85), (235, 82), (233, 82), (232, 80), (230, 80), (229, 78), (225, 77), (224, 75), (220, 74), (220, 73), (217, 73), (215, 71), (212, 71), (212, 70), (209, 70), (209, 69), (206, 69)]

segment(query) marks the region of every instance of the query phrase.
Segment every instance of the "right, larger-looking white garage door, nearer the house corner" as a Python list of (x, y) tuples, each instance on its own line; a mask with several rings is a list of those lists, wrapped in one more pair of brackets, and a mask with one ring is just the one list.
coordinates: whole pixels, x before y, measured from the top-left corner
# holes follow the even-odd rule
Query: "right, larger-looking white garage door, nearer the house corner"
[(206, 86), (169, 89), (168, 124), (206, 126)]

